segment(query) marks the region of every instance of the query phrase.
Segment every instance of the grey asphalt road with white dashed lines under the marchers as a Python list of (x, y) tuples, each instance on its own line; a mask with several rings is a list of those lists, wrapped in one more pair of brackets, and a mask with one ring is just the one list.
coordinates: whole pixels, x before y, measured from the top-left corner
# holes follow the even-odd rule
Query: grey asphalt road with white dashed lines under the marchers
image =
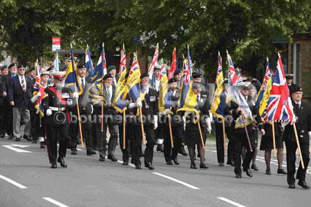
[[(115, 156), (121, 160), (118, 147)], [(155, 152), (155, 170), (135, 170), (121, 161), (100, 162), (85, 150), (78, 155), (68, 150), (68, 168), (50, 169), (39, 144), (0, 139), (0, 206), (310, 206), (311, 191), (289, 189), (286, 176), (276, 174), (276, 159), (272, 175), (265, 175), (263, 152), (260, 170), (252, 178), (243, 173), (242, 179), (234, 177), (232, 166), (218, 166), (214, 145), (207, 145), (205, 157), (209, 169), (192, 170), (189, 157), (179, 155), (179, 166), (167, 166)], [(310, 174), (306, 181), (311, 184)]]

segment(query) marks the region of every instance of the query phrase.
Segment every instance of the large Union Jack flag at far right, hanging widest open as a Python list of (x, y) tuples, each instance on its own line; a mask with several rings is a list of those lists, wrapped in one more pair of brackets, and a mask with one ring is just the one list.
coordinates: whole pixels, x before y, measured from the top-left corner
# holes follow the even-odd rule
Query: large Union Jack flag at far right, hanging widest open
[(267, 104), (267, 114), (265, 121), (281, 121), (294, 123), (296, 117), (290, 99), (290, 90), (285, 79), (283, 64), (279, 54), (279, 60), (276, 66), (276, 73), (270, 91), (270, 98)]

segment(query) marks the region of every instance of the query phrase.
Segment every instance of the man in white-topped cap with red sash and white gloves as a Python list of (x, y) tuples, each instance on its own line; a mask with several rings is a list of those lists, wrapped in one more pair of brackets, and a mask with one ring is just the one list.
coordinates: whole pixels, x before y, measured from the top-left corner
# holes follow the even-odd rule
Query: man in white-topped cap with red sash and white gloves
[(54, 86), (46, 88), (46, 97), (42, 100), (42, 106), (46, 117), (46, 136), (48, 147), (48, 158), (51, 168), (57, 168), (57, 142), (59, 144), (57, 161), (63, 168), (67, 167), (64, 160), (68, 144), (69, 113), (68, 107), (73, 104), (72, 99), (79, 97), (77, 92), (73, 92), (70, 97), (70, 90), (64, 88), (64, 72), (54, 72)]

